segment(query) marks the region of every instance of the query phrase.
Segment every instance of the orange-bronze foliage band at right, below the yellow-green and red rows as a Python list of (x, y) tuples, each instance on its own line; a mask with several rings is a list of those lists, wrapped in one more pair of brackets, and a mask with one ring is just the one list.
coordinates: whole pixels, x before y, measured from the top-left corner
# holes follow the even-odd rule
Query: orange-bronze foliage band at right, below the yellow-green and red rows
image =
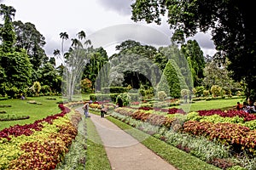
[(217, 139), (220, 143), (230, 145), (236, 152), (246, 150), (256, 155), (256, 130), (250, 130), (236, 123), (212, 123), (188, 121), (183, 123), (183, 131), (195, 136)]

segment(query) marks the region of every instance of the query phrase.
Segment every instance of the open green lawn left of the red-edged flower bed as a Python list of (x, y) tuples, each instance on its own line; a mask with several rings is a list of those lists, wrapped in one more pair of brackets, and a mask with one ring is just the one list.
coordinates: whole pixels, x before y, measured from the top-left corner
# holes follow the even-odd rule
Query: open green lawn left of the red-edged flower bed
[[(56, 99), (56, 100), (53, 100), (53, 99)], [(27, 103), (30, 100), (35, 100), (37, 103), (42, 105)], [(29, 123), (35, 122), (36, 120), (43, 119), (46, 116), (60, 113), (61, 110), (58, 108), (58, 104), (56, 104), (56, 102), (61, 100), (62, 99), (60, 96), (34, 97), (34, 98), (27, 98), (26, 100), (21, 100), (21, 99), (0, 100), (0, 105), (11, 105), (11, 107), (0, 108), (0, 111), (7, 112), (5, 114), (30, 116), (30, 118), (26, 120), (0, 122), (0, 130), (2, 130), (5, 127), (14, 126), (16, 124), (20, 124), (20, 125), (29, 124)]]

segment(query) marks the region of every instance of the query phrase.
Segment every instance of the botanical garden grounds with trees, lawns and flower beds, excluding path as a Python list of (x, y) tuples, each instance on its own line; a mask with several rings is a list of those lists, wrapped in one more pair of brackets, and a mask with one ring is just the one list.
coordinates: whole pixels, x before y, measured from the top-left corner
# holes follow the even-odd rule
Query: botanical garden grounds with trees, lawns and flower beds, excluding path
[[(176, 30), (170, 46), (127, 39), (108, 56), (84, 31), (77, 37), (61, 32), (54, 57), (46, 55), (36, 26), (15, 21), (15, 8), (1, 4), (0, 169), (112, 169), (104, 144), (95, 142), (101, 141), (95, 124), (82, 111), (90, 103), (90, 115), (100, 116), (103, 106), (105, 119), (177, 169), (255, 170), (256, 113), (236, 108), (256, 99), (255, 27), (247, 25), (241, 4), (232, 3), (251, 39), (232, 20), (229, 2), (207, 3), (219, 15), (226, 11), (226, 18), (216, 14), (219, 27), (212, 24), (213, 9), (194, 14), (205, 3), (184, 2), (132, 5), (132, 20), (148, 23), (160, 22), (168, 10)], [(217, 54), (204, 56), (195, 40), (179, 43), (196, 26), (215, 29)]]

